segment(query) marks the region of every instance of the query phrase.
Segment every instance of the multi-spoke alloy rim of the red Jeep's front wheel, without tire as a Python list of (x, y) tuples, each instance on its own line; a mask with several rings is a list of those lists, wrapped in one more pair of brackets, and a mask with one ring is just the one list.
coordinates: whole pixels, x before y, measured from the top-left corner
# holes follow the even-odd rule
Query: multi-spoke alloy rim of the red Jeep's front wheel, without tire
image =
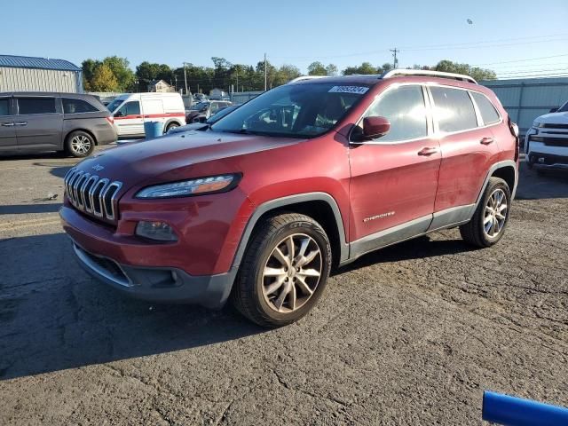
[(321, 268), (318, 243), (304, 233), (289, 235), (276, 245), (264, 265), (264, 301), (276, 312), (300, 309), (318, 287)]

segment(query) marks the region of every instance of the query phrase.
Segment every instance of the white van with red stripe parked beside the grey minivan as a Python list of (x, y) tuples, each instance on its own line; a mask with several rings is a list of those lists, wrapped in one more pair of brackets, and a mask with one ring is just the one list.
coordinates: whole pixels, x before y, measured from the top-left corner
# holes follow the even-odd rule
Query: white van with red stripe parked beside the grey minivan
[(119, 138), (144, 136), (144, 122), (163, 122), (163, 132), (185, 125), (179, 93), (124, 93), (107, 108)]

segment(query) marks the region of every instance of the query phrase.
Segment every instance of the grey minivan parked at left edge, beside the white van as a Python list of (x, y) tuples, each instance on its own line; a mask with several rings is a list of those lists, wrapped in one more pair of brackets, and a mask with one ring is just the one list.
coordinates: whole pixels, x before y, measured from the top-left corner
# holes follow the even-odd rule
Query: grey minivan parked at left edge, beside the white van
[(0, 154), (60, 151), (86, 157), (116, 141), (108, 109), (79, 93), (0, 93)]

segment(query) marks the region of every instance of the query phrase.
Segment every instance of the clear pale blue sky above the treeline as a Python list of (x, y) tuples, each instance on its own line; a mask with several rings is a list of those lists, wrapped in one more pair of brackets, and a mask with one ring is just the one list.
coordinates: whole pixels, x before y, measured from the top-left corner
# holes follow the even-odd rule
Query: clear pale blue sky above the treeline
[[(0, 54), (67, 59), (118, 55), (181, 67), (211, 57), (306, 72), (363, 61), (400, 67), (450, 59), (500, 77), (568, 75), (568, 0), (67, 1), (4, 0)], [(470, 20), (472, 23), (468, 22)]]

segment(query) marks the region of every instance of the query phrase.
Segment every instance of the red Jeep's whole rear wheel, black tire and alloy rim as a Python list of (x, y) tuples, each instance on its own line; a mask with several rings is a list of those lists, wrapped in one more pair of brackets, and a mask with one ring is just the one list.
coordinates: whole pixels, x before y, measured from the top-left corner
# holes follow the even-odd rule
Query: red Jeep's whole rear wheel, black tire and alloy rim
[[(495, 207), (498, 213), (493, 216)], [(460, 226), (461, 238), (476, 247), (493, 246), (505, 232), (510, 207), (509, 185), (500, 177), (490, 177), (473, 217), (466, 225)]]

